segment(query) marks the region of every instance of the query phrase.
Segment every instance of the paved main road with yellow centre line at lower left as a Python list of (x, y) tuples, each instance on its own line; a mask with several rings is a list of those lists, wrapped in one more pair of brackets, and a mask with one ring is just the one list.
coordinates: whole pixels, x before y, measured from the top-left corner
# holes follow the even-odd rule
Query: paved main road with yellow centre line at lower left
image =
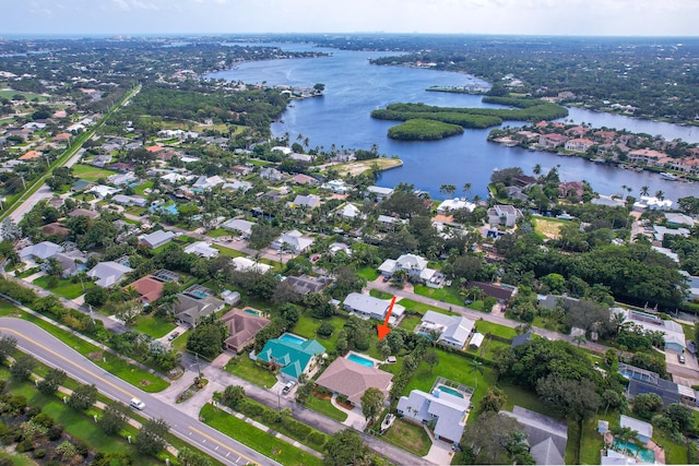
[(95, 384), (99, 392), (110, 398), (127, 404), (132, 397), (142, 399), (146, 405), (142, 411), (145, 417), (164, 419), (175, 435), (225, 465), (234, 466), (247, 463), (279, 465), (279, 463), (236, 442), (198, 419), (178, 409), (173, 409), (173, 406), (163, 403), (152, 394), (110, 374), (31, 322), (0, 318), (0, 333), (14, 336), (17, 339), (19, 348), (23, 351), (33, 355), (50, 367), (61, 368), (69, 377), (82, 383)]

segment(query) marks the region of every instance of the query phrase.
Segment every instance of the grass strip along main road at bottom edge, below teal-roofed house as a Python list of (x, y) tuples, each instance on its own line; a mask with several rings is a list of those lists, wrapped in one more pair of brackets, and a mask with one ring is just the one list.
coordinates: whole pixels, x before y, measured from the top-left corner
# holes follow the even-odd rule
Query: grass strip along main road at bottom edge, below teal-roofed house
[(283, 465), (321, 466), (323, 464), (322, 459), (289, 445), (235, 416), (218, 410), (210, 404), (204, 405), (199, 416), (208, 426)]

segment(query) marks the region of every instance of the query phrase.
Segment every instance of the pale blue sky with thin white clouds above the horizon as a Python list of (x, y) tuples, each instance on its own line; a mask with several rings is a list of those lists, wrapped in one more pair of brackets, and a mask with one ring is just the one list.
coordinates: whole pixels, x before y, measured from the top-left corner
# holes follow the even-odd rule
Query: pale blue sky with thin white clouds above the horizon
[(10, 35), (696, 36), (699, 0), (0, 0)]

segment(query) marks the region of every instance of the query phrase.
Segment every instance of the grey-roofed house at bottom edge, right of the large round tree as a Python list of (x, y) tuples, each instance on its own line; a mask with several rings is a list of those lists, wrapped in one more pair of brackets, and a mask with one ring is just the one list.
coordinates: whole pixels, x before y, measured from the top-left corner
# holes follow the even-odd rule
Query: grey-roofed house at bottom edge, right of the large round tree
[(568, 425), (521, 406), (512, 411), (500, 411), (510, 416), (524, 427), (530, 454), (537, 465), (562, 465), (568, 443)]

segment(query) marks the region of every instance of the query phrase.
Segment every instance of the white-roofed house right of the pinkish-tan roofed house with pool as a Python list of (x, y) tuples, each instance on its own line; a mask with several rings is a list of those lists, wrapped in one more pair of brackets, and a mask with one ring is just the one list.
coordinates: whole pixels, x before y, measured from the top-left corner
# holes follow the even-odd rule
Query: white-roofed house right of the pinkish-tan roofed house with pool
[(457, 444), (466, 426), (470, 406), (471, 396), (460, 397), (437, 389), (433, 393), (413, 390), (408, 396), (401, 396), (396, 411), (415, 423), (434, 421), (435, 438)]

